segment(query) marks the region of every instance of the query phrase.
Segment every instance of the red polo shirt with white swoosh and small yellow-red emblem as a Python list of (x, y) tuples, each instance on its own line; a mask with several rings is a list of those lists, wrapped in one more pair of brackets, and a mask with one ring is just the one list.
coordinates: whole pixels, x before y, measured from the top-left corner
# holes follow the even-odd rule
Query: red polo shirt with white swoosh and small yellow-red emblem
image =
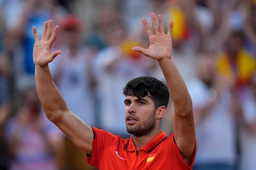
[(123, 140), (106, 130), (92, 128), (94, 139), (92, 156), (87, 155), (87, 163), (100, 170), (192, 170), (197, 151), (193, 154), (192, 165), (188, 167), (173, 138), (164, 131), (136, 149), (133, 137)]

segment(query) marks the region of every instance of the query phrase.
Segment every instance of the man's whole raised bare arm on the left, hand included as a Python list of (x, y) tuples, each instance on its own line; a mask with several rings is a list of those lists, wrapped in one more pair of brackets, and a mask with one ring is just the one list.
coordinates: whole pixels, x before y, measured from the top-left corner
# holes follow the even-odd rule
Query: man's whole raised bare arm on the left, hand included
[(39, 40), (36, 27), (33, 27), (36, 89), (47, 118), (55, 123), (80, 149), (92, 154), (92, 128), (69, 110), (52, 80), (48, 67), (48, 63), (53, 61), (58, 54), (61, 54), (59, 50), (51, 53), (51, 47), (57, 37), (58, 30), (59, 26), (56, 26), (52, 34), (52, 20), (45, 22), (43, 36)]

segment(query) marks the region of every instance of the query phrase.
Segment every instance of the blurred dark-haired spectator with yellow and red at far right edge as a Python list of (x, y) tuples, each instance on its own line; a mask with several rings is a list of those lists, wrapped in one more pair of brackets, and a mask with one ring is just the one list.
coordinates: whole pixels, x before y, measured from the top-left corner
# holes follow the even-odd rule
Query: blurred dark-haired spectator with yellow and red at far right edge
[(244, 48), (243, 33), (233, 31), (225, 42), (223, 53), (219, 55), (218, 72), (225, 77), (235, 76), (232, 88), (239, 91), (249, 84), (255, 70), (256, 60)]

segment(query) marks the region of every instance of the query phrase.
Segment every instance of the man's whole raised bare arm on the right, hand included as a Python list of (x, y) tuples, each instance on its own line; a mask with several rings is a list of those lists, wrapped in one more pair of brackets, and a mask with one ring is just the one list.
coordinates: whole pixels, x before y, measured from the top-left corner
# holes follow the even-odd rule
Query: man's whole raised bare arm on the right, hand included
[(171, 56), (173, 23), (169, 23), (169, 30), (166, 35), (164, 33), (162, 16), (158, 15), (159, 27), (156, 23), (155, 14), (151, 14), (151, 18), (155, 35), (150, 30), (146, 19), (142, 19), (145, 31), (149, 37), (149, 48), (133, 47), (132, 50), (139, 51), (150, 58), (156, 59), (164, 73), (174, 104), (173, 134), (184, 160), (189, 165), (195, 146), (194, 117), (192, 100)]

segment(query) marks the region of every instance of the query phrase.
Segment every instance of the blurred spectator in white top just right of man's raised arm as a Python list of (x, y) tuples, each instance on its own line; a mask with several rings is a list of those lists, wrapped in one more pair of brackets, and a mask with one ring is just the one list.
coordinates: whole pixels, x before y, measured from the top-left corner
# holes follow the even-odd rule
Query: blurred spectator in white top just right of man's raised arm
[(197, 58), (197, 78), (188, 84), (198, 141), (193, 170), (235, 170), (236, 123), (231, 85), (216, 72), (216, 57)]

